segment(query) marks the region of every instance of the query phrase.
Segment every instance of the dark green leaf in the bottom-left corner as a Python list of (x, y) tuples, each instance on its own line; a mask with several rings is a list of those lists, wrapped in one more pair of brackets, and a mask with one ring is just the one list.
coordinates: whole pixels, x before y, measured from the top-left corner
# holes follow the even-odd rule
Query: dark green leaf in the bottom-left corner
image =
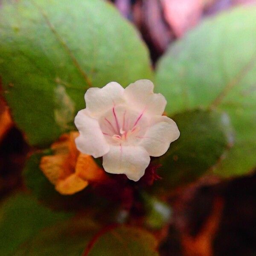
[(0, 255), (13, 255), (17, 247), (46, 227), (70, 218), (72, 214), (52, 212), (35, 200), (20, 193), (0, 207)]

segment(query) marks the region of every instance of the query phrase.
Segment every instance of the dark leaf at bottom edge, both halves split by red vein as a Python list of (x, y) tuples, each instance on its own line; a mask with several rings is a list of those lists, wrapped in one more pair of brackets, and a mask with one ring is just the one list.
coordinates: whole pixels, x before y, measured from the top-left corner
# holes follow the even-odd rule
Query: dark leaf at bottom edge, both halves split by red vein
[(80, 256), (85, 251), (95, 256), (158, 255), (156, 239), (145, 230), (118, 227), (99, 231), (99, 224), (90, 218), (73, 218), (41, 230), (22, 244), (15, 256)]

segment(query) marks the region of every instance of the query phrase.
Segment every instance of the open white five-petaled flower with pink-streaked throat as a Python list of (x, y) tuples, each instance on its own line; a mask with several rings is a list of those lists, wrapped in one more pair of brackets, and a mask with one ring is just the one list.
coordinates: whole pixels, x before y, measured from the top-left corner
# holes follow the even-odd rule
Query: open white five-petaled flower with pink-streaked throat
[(176, 123), (162, 116), (166, 99), (153, 89), (149, 80), (136, 81), (125, 89), (116, 82), (102, 89), (88, 89), (84, 95), (86, 108), (75, 118), (79, 151), (103, 156), (106, 172), (139, 180), (149, 156), (163, 155), (180, 136)]

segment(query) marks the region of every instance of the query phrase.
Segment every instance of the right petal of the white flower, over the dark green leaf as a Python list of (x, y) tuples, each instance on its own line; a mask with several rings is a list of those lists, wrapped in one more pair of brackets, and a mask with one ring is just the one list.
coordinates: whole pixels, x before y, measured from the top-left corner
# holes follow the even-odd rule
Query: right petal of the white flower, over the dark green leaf
[(177, 140), (180, 131), (176, 123), (167, 116), (154, 116), (151, 126), (139, 144), (152, 157), (160, 157), (168, 150), (170, 143)]

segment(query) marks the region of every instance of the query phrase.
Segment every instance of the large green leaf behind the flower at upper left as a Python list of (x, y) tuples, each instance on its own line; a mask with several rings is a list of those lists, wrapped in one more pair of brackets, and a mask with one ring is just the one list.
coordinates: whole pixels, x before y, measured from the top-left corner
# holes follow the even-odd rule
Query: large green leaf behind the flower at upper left
[(46, 146), (74, 128), (88, 87), (151, 79), (148, 50), (102, 0), (3, 0), (0, 76), (29, 143)]

